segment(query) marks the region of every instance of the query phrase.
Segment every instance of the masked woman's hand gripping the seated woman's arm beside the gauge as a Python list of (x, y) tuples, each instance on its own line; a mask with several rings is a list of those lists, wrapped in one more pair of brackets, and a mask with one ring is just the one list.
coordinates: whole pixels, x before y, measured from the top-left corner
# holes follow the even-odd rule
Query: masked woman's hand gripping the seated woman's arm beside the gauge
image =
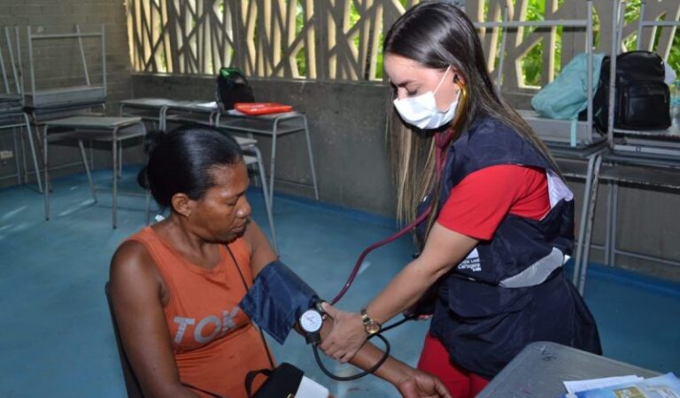
[(361, 316), (356, 312), (337, 310), (328, 302), (321, 305), (334, 323), (330, 334), (319, 347), (327, 356), (346, 363), (357, 354), (368, 338)]

